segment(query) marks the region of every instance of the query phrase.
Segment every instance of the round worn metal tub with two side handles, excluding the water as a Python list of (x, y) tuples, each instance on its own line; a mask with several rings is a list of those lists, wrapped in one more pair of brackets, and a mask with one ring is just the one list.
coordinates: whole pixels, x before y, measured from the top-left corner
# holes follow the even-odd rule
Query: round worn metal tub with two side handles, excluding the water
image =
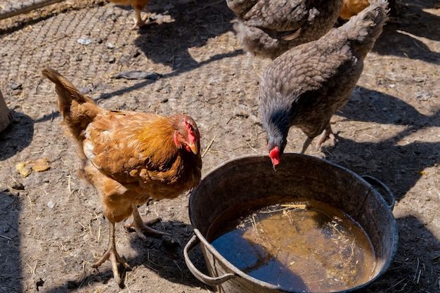
[[(379, 193), (377, 190), (381, 190)], [(276, 195), (276, 196), (273, 196)], [(387, 270), (397, 249), (397, 226), (389, 188), (370, 176), (358, 176), (337, 164), (308, 155), (284, 154), (274, 171), (266, 156), (247, 156), (221, 164), (193, 190), (189, 216), (195, 235), (183, 250), (186, 264), (196, 278), (224, 293), (292, 292), (252, 278), (240, 271), (210, 244), (207, 235), (216, 219), (240, 211), (291, 202), (297, 197), (337, 207), (358, 222), (375, 250), (376, 266), (368, 282), (339, 292), (354, 292), (374, 282)], [(387, 199), (384, 200), (384, 197)], [(234, 207), (234, 215), (225, 211)], [(189, 252), (200, 245), (209, 275), (196, 268)]]

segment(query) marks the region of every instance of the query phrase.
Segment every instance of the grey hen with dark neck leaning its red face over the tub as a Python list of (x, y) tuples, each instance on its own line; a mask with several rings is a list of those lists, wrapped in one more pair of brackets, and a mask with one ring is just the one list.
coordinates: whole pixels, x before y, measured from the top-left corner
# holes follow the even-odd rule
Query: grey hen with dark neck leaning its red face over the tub
[(330, 136), (330, 118), (347, 103), (387, 21), (387, 1), (373, 0), (365, 10), (317, 41), (279, 56), (264, 70), (259, 112), (268, 135), (269, 157), (280, 162), (291, 126), (306, 134), (305, 152), (321, 134), (317, 148)]

